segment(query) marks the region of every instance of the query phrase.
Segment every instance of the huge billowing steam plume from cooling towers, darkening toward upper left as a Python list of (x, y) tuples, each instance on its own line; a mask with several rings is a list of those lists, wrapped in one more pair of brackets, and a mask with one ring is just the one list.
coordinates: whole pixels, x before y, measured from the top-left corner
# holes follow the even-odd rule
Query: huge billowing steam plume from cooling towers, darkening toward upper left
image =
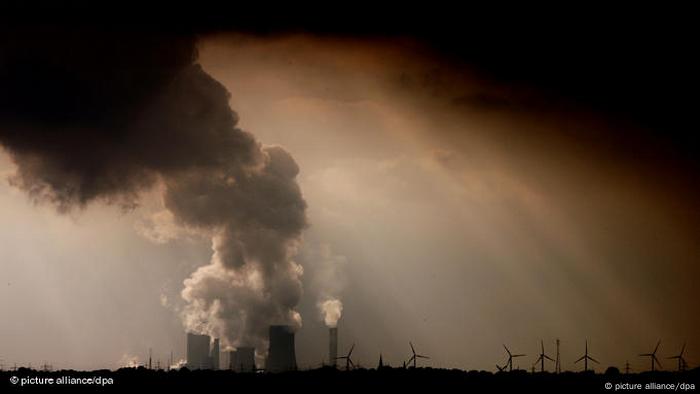
[(270, 324), (301, 325), (294, 261), (306, 226), (299, 168), (237, 127), (229, 93), (188, 35), (34, 29), (0, 41), (0, 144), (10, 182), (66, 212), (131, 208), (162, 185), (175, 222), (212, 238), (185, 281), (186, 329), (264, 349)]

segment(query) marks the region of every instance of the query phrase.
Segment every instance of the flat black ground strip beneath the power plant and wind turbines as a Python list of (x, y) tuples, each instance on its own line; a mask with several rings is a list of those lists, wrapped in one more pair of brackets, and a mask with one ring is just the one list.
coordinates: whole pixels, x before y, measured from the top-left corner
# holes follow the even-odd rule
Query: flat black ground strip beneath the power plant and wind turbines
[[(11, 378), (18, 379), (13, 384)], [(103, 380), (112, 379), (112, 384), (101, 386), (100, 384), (31, 384), (21, 385), (22, 378), (94, 378)], [(330, 368), (322, 368), (309, 371), (288, 372), (279, 374), (268, 373), (234, 373), (231, 371), (153, 371), (144, 368), (120, 369), (117, 371), (35, 371), (20, 368), (17, 371), (0, 372), (0, 392), (14, 393), (27, 391), (49, 392), (85, 392), (85, 391), (109, 391), (109, 392), (181, 392), (192, 390), (200, 393), (202, 390), (226, 390), (233, 392), (244, 389), (284, 390), (286, 392), (360, 392), (371, 390), (374, 392), (612, 392), (616, 384), (640, 383), (642, 390), (622, 390), (618, 392), (697, 392), (700, 389), (700, 369), (677, 373), (656, 372), (640, 374), (620, 374), (616, 371), (608, 371), (605, 374), (573, 373), (527, 373), (525, 371), (513, 371), (512, 373), (496, 373), (483, 371), (462, 371), (448, 369), (403, 369), (383, 368), (358, 369), (350, 372), (337, 371)], [(612, 387), (606, 389), (606, 383)], [(645, 385), (673, 384), (671, 389), (647, 388)], [(686, 384), (684, 387), (682, 384)], [(676, 389), (676, 386), (679, 386)], [(693, 385), (694, 388), (689, 387)]]

